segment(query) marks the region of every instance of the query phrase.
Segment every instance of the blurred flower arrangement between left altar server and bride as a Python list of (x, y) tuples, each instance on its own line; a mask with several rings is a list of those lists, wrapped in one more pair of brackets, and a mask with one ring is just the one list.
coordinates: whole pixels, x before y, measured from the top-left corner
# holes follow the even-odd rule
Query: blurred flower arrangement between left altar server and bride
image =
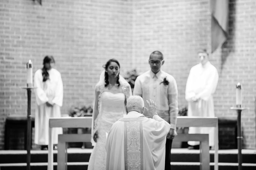
[(69, 110), (69, 116), (71, 117), (83, 117), (92, 115), (92, 106), (75, 107), (71, 106)]

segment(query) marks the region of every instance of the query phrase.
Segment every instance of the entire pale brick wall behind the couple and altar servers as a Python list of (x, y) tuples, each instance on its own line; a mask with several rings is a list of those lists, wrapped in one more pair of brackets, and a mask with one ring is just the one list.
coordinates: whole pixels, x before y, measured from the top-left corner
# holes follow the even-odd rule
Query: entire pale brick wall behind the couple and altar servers
[[(219, 72), (214, 94), (215, 113), (236, 117), (235, 85), (242, 84), (244, 148), (256, 147), (254, 98), (256, 96), (256, 3), (230, 0), (229, 37), (210, 61)], [(108, 0), (0, 2), (0, 149), (3, 148), (6, 116), (26, 115), (26, 62), (33, 73), (42, 67), (47, 54), (56, 59), (64, 84), (61, 112), (72, 105), (91, 105), (94, 85), (107, 59), (120, 61), (121, 72), (149, 69), (147, 60), (154, 50), (164, 54), (163, 70), (178, 85), (179, 107), (185, 107), (185, 86), (190, 68), (198, 63), (199, 48), (210, 49), (208, 0)], [(34, 114), (32, 93), (32, 115)]]

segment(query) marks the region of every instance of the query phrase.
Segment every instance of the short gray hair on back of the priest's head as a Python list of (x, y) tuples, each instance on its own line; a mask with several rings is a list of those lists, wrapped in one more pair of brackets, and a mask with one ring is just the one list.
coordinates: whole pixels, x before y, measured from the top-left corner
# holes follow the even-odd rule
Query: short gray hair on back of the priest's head
[(126, 107), (127, 107), (127, 112), (138, 111), (141, 113), (142, 108), (144, 107), (144, 101), (140, 96), (130, 96), (127, 99)]

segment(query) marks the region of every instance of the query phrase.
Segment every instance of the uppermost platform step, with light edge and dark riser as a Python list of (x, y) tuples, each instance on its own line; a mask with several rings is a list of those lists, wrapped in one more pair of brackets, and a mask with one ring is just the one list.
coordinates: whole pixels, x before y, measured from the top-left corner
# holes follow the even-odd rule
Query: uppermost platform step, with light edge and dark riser
[[(69, 148), (68, 162), (88, 162), (92, 149)], [(172, 162), (199, 162), (199, 150), (184, 148), (172, 149)], [(26, 163), (26, 150), (0, 150), (0, 163)], [(47, 150), (31, 150), (31, 163), (44, 163), (48, 161)], [(219, 150), (219, 162), (237, 163), (237, 153), (234, 150)], [(53, 161), (57, 162), (57, 150), (53, 150)], [(256, 163), (255, 150), (242, 150), (243, 163)], [(214, 162), (214, 150), (210, 150), (210, 162)]]

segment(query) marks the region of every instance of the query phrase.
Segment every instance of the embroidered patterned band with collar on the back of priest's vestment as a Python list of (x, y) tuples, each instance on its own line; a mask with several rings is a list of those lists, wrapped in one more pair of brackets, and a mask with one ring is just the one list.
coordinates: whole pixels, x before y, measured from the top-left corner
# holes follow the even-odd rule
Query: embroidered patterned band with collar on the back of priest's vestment
[(125, 170), (143, 170), (142, 120), (146, 120), (146, 117), (119, 120), (124, 121)]

